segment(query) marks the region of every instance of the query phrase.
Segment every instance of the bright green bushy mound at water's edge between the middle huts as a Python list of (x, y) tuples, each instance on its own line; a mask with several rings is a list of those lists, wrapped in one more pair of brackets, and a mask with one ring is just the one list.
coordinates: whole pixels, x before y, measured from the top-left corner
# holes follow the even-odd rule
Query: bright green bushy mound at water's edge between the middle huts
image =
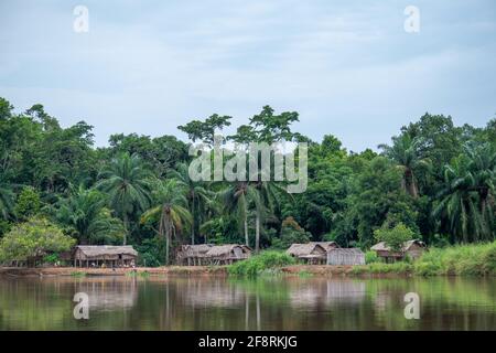
[(285, 253), (266, 250), (246, 260), (229, 265), (228, 272), (231, 276), (256, 277), (263, 271), (279, 269), (294, 263), (294, 258)]

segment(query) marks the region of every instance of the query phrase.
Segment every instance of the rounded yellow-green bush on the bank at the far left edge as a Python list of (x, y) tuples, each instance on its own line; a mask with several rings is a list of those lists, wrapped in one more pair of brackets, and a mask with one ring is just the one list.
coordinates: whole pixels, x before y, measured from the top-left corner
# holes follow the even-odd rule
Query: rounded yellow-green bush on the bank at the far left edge
[(0, 240), (0, 260), (28, 260), (68, 250), (75, 239), (43, 218), (30, 218), (14, 226)]

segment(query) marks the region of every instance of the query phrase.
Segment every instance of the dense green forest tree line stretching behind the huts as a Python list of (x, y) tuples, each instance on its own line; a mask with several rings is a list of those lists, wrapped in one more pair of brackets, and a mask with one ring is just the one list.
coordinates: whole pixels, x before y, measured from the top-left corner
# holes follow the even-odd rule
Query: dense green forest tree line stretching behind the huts
[[(174, 136), (112, 135), (96, 148), (86, 122), (64, 128), (42, 105), (15, 113), (0, 98), (0, 252), (19, 257), (9, 249), (33, 228), (78, 244), (131, 244), (150, 266), (170, 263), (181, 244), (367, 248), (390, 229), (435, 246), (495, 239), (496, 119), (477, 128), (425, 114), (378, 152), (359, 153), (333, 135), (312, 141), (293, 131), (296, 121), (298, 113), (266, 106), (225, 137), (308, 142), (308, 190), (288, 194), (283, 182), (261, 178), (192, 180), (188, 143)], [(177, 128), (212, 147), (230, 124), (214, 114)]]

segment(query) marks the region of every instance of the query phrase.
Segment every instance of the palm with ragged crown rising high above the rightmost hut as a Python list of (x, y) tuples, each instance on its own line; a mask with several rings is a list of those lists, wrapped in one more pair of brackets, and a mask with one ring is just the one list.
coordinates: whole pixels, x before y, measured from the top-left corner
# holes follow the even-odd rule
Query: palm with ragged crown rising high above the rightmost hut
[(419, 188), (413, 171), (422, 167), (430, 167), (429, 160), (420, 157), (419, 145), (420, 139), (412, 138), (409, 133), (393, 137), (392, 147), (379, 145), (379, 148), (384, 150), (384, 153), (402, 169), (403, 189), (416, 199), (419, 196)]

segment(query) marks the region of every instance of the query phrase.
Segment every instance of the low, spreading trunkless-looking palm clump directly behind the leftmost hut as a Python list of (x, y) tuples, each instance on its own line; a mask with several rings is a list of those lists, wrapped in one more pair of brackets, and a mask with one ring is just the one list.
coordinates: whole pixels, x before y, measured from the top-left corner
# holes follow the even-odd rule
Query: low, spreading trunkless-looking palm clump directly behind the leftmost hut
[(57, 202), (55, 217), (76, 233), (80, 244), (112, 244), (125, 234), (122, 222), (106, 207), (105, 196), (83, 185)]

